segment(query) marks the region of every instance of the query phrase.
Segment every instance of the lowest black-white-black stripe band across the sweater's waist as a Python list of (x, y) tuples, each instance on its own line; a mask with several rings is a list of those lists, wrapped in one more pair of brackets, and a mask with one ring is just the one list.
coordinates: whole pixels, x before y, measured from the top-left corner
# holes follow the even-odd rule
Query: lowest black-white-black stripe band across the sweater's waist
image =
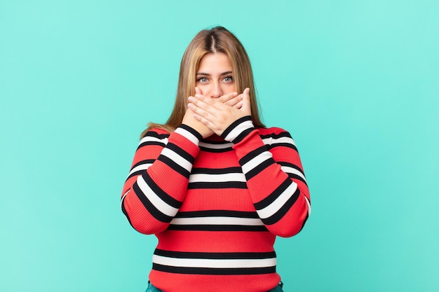
[(203, 253), (156, 249), (152, 261), (154, 270), (184, 274), (262, 274), (276, 270), (274, 251)]

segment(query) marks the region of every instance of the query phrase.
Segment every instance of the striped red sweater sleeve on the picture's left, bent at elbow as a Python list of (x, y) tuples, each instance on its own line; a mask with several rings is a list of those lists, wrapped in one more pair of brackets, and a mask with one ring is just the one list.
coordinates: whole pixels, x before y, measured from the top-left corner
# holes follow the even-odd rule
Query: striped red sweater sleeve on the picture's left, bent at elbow
[(147, 132), (123, 186), (121, 208), (135, 230), (155, 234), (168, 228), (187, 192), (201, 135), (187, 125), (168, 134)]

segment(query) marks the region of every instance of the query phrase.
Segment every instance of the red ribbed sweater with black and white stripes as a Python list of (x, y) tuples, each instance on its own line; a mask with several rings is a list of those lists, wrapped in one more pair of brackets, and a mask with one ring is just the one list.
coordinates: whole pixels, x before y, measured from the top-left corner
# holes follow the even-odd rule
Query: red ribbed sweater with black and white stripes
[(311, 207), (290, 134), (237, 120), (202, 139), (180, 125), (140, 141), (121, 207), (155, 234), (149, 279), (166, 292), (262, 292), (276, 286), (276, 235), (297, 234)]

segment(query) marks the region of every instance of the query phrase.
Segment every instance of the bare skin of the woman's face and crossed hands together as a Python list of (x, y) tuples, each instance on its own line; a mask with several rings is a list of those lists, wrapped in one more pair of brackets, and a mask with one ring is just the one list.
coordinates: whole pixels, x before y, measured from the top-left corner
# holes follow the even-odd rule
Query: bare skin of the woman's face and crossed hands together
[(250, 89), (238, 95), (229, 58), (224, 53), (209, 53), (196, 73), (196, 95), (188, 98), (182, 123), (203, 136), (221, 135), (238, 118), (251, 116)]

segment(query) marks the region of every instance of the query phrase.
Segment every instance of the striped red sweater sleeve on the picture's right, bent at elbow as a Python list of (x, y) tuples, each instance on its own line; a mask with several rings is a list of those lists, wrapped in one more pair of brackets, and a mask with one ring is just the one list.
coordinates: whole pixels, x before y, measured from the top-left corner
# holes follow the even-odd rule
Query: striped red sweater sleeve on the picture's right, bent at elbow
[(296, 235), (311, 214), (302, 162), (290, 134), (274, 128), (260, 135), (251, 117), (236, 120), (222, 137), (233, 148), (259, 218), (275, 235)]

